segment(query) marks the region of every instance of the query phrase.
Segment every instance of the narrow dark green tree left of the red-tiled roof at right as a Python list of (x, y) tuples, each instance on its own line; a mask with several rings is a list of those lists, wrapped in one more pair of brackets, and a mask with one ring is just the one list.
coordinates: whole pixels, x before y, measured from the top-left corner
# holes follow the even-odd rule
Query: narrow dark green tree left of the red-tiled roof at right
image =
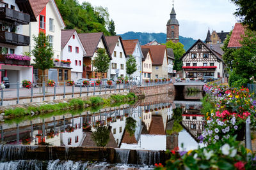
[(234, 51), (236, 51), (235, 48), (228, 48), (228, 43), (229, 43), (231, 34), (232, 34), (232, 31), (229, 33), (229, 35), (227, 35), (227, 38), (224, 41), (224, 45), (221, 47), (221, 49), (224, 52), (222, 57), (228, 70), (232, 69), (232, 61), (234, 60)]

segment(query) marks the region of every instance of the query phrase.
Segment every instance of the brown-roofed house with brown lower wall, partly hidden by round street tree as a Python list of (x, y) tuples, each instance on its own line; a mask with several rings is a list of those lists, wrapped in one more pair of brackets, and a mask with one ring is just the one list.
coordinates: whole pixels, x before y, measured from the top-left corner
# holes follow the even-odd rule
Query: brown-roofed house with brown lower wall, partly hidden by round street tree
[(97, 73), (95, 67), (93, 67), (92, 60), (97, 56), (97, 49), (103, 48), (108, 54), (109, 58), (112, 59), (109, 52), (108, 43), (103, 32), (96, 33), (84, 33), (78, 34), (84, 49), (86, 51), (86, 57), (83, 59), (84, 69), (83, 69), (83, 78), (107, 78), (107, 73)]

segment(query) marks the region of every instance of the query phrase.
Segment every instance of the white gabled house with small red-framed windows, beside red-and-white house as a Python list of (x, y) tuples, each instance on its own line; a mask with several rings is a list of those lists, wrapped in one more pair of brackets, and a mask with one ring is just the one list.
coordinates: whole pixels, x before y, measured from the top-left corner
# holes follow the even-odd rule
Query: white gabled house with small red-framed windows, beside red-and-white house
[(86, 52), (76, 30), (61, 31), (61, 60), (70, 60), (71, 80), (83, 77), (83, 57)]

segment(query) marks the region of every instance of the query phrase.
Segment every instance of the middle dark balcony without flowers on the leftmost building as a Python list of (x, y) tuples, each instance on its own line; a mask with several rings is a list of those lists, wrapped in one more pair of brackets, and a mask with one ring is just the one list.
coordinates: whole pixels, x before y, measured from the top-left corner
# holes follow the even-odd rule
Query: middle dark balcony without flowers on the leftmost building
[(16, 34), (13, 32), (0, 31), (0, 43), (15, 46), (27, 46), (29, 45), (29, 36)]

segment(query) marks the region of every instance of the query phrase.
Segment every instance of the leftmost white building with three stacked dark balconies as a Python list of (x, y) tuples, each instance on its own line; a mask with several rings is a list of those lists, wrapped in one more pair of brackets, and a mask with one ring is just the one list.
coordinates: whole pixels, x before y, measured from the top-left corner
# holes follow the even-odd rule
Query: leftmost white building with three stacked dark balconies
[(0, 81), (3, 77), (10, 83), (33, 81), (31, 59), (22, 54), (23, 46), (30, 43), (23, 26), (36, 21), (31, 6), (28, 1), (6, 0), (0, 1), (0, 10)]

